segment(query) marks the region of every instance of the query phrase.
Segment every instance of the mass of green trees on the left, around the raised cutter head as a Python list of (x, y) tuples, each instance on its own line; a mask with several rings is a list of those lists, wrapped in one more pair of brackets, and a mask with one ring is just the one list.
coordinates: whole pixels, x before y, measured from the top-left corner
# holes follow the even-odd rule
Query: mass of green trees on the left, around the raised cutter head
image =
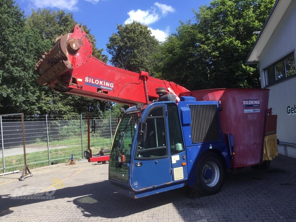
[[(24, 112), (25, 115), (101, 114), (110, 102), (53, 91), (36, 83), (34, 67), (41, 53), (51, 49), (55, 38), (70, 32), (77, 22), (63, 10), (39, 9), (25, 18), (12, 0), (0, 3), (0, 107), (1, 114)], [(96, 39), (84, 25), (93, 42), (93, 55), (107, 62)]]

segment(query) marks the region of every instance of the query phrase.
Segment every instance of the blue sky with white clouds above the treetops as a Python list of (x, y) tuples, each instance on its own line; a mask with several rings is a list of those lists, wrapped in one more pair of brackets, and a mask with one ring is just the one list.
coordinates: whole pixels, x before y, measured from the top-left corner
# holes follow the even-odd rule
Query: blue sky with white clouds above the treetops
[(16, 0), (25, 15), (30, 14), (31, 9), (38, 8), (72, 12), (77, 22), (82, 22), (91, 29), (96, 37), (97, 47), (103, 48), (103, 54), (107, 55), (106, 43), (112, 33), (116, 32), (116, 24), (137, 20), (148, 25), (159, 41), (164, 41), (165, 37), (176, 31), (179, 21), (193, 18), (192, 9), (198, 10), (200, 5), (209, 2), (210, 0)]

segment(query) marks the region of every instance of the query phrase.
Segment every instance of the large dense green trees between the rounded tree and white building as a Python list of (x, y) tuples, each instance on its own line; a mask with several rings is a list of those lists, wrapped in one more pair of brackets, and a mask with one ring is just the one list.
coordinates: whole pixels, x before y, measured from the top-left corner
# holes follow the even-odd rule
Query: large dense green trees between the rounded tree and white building
[(256, 67), (244, 65), (274, 0), (213, 0), (181, 23), (154, 55), (153, 71), (191, 90), (259, 87)]

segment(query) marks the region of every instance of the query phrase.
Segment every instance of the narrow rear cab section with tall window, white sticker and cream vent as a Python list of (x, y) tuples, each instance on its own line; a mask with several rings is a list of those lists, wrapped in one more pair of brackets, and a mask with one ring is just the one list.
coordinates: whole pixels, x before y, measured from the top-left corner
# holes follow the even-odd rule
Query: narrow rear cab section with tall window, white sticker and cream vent
[(180, 115), (176, 103), (167, 104), (167, 114), (168, 147), (170, 147), (173, 181), (181, 181), (188, 178), (188, 170)]

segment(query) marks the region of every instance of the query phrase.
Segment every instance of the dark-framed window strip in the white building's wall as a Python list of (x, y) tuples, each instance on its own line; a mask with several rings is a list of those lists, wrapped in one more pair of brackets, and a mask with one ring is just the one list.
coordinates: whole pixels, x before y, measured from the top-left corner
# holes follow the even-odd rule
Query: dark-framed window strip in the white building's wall
[(296, 74), (294, 52), (268, 66), (265, 70), (266, 86)]

